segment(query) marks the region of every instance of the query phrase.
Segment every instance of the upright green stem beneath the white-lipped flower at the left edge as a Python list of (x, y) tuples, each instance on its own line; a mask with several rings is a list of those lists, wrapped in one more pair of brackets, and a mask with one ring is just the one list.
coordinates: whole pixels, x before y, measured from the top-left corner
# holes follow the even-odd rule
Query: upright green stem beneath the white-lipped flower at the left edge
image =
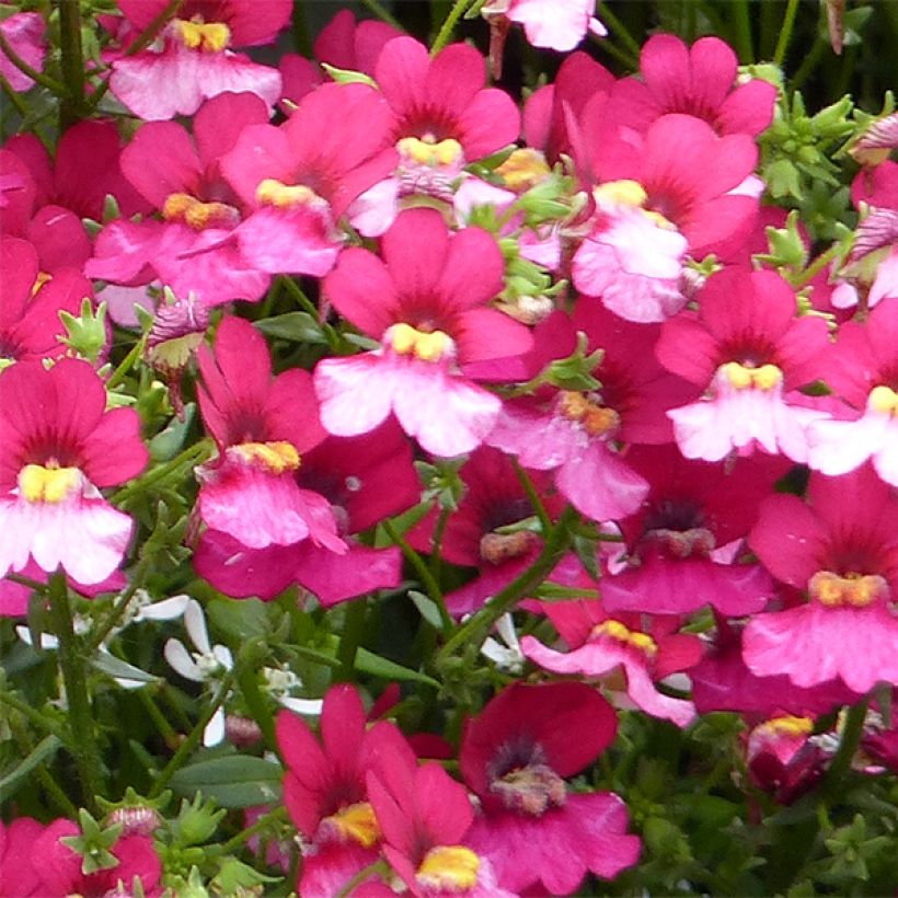
[(66, 575), (57, 572), (50, 577), (49, 586), (50, 620), (54, 633), (59, 640), (59, 667), (62, 671), (62, 682), (66, 686), (69, 729), (72, 735), (69, 751), (74, 756), (84, 806), (95, 814), (96, 796), (104, 794), (104, 787), (101, 776), (102, 761), (94, 736), (93, 714), (88, 696), (84, 657), (81, 654), (78, 636), (74, 634)]

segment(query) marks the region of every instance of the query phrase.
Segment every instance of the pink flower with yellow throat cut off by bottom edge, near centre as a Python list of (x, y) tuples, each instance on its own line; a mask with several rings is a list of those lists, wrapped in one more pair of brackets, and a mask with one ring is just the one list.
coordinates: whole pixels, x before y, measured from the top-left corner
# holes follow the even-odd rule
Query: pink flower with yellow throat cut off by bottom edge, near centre
[(465, 844), (474, 808), (461, 783), (435, 761), (383, 753), (367, 774), (383, 854), (416, 898), (514, 898), (488, 859)]

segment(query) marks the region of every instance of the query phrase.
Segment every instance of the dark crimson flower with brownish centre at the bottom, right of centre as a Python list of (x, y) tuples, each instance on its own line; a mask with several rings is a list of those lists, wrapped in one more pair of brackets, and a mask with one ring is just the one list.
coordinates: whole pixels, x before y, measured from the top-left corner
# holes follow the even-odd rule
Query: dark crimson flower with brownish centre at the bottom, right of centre
[(469, 834), (500, 885), (574, 893), (587, 872), (612, 879), (635, 864), (614, 794), (569, 792), (564, 783), (613, 741), (617, 718), (584, 683), (514, 683), (468, 721), (459, 764), (482, 814)]

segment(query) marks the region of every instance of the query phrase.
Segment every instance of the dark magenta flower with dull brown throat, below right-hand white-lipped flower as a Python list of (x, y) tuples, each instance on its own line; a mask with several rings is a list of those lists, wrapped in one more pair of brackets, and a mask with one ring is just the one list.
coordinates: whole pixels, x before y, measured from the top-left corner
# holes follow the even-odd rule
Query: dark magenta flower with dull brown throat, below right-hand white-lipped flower
[(773, 592), (770, 575), (719, 554), (733, 543), (738, 550), (788, 463), (763, 457), (725, 470), (688, 461), (670, 445), (634, 447), (626, 461), (651, 488), (621, 522), (630, 561), (602, 578), (605, 607), (653, 614), (683, 614), (709, 603), (730, 615), (760, 611)]

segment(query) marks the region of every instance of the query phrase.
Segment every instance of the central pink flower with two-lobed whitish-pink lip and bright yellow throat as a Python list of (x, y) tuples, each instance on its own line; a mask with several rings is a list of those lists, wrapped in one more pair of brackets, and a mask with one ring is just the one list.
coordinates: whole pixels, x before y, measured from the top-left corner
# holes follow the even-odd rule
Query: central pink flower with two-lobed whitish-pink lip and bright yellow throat
[(353, 436), (392, 412), (427, 451), (469, 452), (502, 403), (464, 377), (464, 365), (531, 346), (522, 324), (487, 306), (503, 287), (499, 247), (479, 228), (451, 234), (439, 212), (411, 209), (383, 235), (381, 253), (383, 261), (346, 250), (324, 281), (334, 308), (381, 346), (318, 364), (321, 421)]

